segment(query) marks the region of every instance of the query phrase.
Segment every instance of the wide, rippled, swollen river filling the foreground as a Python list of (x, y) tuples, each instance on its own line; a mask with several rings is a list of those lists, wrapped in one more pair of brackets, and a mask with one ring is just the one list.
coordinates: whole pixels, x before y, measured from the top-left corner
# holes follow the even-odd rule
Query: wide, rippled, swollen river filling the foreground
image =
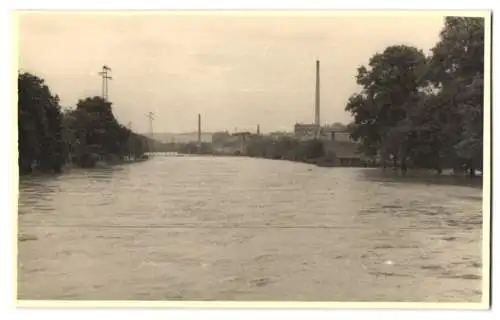
[(23, 178), (19, 298), (479, 302), (481, 199), (248, 158)]

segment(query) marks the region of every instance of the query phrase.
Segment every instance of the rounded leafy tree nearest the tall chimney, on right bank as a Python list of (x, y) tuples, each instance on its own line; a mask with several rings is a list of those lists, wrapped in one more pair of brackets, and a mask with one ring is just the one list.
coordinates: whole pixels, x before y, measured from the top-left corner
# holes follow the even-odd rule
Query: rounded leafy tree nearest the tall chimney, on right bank
[(356, 82), (362, 90), (351, 96), (346, 111), (354, 116), (351, 137), (361, 141), (366, 154), (404, 163), (410, 133), (406, 116), (415, 107), (408, 102), (425, 83), (426, 62), (422, 50), (395, 45), (375, 54), (368, 67), (358, 68)]

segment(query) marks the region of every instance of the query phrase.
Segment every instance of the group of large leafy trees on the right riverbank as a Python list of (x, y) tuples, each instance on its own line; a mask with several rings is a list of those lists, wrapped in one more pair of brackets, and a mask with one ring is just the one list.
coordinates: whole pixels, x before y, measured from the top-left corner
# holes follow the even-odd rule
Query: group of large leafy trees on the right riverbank
[(483, 163), (484, 19), (447, 17), (429, 55), (392, 45), (357, 70), (351, 137), (383, 164), (467, 170)]

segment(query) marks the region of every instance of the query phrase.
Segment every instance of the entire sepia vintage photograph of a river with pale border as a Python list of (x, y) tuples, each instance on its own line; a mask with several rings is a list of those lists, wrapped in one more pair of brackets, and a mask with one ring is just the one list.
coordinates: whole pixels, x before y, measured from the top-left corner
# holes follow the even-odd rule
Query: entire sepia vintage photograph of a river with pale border
[(18, 301), (488, 306), (490, 12), (15, 16)]

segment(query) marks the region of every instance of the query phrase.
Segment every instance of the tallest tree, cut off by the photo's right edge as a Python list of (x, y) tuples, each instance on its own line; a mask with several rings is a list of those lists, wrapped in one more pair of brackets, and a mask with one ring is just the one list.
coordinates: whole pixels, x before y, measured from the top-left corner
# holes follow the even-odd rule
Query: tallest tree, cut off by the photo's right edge
[(456, 118), (457, 157), (471, 175), (482, 169), (484, 97), (484, 19), (447, 17), (439, 42), (432, 48), (429, 79), (447, 100)]

